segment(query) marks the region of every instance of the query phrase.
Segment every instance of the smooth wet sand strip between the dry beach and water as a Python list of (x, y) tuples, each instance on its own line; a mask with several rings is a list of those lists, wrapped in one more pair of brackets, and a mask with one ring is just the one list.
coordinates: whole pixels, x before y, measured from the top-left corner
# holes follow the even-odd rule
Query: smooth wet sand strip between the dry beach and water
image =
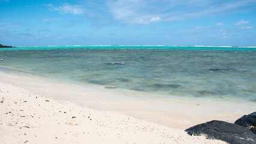
[(145, 98), (135, 91), (104, 89), (104, 86), (78, 85), (43, 77), (22, 76), (0, 71), (1, 82), (23, 87), (35, 94), (70, 101), (96, 110), (107, 110), (170, 128), (186, 129), (206, 121), (234, 123), (237, 118), (254, 111), (255, 103), (219, 98)]

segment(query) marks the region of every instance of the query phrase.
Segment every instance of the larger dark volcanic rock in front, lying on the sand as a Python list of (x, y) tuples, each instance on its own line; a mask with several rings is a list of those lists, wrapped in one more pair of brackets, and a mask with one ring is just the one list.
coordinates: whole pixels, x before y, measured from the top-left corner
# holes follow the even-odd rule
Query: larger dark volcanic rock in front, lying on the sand
[(224, 121), (209, 121), (185, 130), (187, 134), (206, 135), (207, 139), (218, 139), (234, 144), (254, 144), (256, 136), (248, 128)]

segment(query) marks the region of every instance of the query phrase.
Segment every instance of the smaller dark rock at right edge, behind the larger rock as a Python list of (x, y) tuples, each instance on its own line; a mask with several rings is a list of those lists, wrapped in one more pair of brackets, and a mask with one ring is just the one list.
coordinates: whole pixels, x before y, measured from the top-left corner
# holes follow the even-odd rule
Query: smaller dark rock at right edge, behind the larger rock
[(249, 128), (252, 132), (254, 132), (254, 134), (256, 134), (256, 112), (242, 116), (242, 118), (236, 120), (235, 124)]

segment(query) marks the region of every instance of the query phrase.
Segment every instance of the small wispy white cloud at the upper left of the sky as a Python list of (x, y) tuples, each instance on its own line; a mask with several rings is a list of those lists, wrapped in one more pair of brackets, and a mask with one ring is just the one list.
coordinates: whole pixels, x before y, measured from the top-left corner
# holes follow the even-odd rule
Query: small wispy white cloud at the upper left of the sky
[(52, 4), (47, 4), (47, 7), (50, 8), (52, 11), (59, 11), (59, 13), (62, 14), (82, 14), (84, 13), (84, 9), (82, 8), (81, 5), (70, 5), (68, 3), (61, 5), (61, 6), (54, 6)]

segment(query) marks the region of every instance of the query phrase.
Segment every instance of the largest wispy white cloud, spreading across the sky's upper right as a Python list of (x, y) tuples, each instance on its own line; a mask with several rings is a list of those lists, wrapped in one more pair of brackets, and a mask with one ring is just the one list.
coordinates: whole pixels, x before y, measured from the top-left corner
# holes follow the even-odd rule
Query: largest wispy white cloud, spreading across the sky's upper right
[(125, 23), (147, 24), (234, 13), (238, 8), (243, 10), (246, 7), (252, 7), (251, 5), (256, 4), (256, 1), (107, 0), (106, 4), (114, 19)]

